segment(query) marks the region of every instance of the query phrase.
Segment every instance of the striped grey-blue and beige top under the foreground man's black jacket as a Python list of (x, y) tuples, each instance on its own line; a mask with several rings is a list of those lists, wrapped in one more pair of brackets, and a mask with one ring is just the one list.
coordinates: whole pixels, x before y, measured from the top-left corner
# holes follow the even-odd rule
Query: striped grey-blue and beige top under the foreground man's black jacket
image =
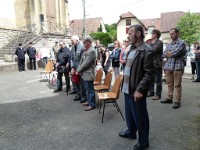
[(124, 69), (124, 82), (122, 85), (122, 92), (129, 94), (129, 77), (130, 77), (130, 69), (131, 69), (131, 65), (133, 64), (134, 61), (134, 55), (136, 53), (136, 49), (130, 50), (128, 57), (127, 57), (127, 61), (126, 61), (126, 66)]

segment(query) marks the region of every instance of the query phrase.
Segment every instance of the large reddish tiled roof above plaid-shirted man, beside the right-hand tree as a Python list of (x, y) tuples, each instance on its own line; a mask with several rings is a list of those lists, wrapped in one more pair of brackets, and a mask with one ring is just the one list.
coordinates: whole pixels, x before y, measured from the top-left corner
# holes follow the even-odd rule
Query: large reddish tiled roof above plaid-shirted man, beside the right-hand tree
[(185, 12), (166, 12), (161, 13), (161, 32), (168, 32), (171, 28), (175, 28), (176, 24), (180, 21), (180, 18), (185, 15)]

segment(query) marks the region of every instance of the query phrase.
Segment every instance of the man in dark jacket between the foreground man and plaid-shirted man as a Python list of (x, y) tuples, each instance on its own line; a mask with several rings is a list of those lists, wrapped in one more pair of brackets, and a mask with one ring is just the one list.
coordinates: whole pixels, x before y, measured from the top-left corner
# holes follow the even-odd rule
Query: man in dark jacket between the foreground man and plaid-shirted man
[[(150, 45), (153, 47), (154, 50), (154, 66), (155, 66), (155, 80), (151, 83), (150, 92), (148, 96), (154, 96), (152, 100), (159, 100), (161, 99), (162, 93), (162, 53), (163, 53), (163, 42), (159, 40), (160, 38), (160, 31), (154, 29), (152, 31), (152, 40)], [(154, 84), (155, 83), (155, 84)], [(156, 91), (154, 91), (154, 85), (156, 85)]]

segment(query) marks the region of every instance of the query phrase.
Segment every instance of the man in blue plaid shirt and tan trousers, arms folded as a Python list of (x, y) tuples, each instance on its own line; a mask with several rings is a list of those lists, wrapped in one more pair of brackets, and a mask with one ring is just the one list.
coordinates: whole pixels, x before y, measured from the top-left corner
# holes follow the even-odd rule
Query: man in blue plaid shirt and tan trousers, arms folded
[(174, 109), (180, 107), (181, 103), (181, 94), (182, 94), (182, 76), (184, 72), (184, 57), (186, 55), (186, 44), (183, 40), (179, 38), (179, 30), (172, 28), (170, 30), (170, 36), (172, 42), (167, 45), (164, 50), (163, 56), (167, 58), (167, 61), (164, 66), (167, 85), (168, 85), (168, 94), (167, 98), (160, 101), (161, 103), (172, 103), (173, 92), (175, 87), (175, 103), (173, 105)]

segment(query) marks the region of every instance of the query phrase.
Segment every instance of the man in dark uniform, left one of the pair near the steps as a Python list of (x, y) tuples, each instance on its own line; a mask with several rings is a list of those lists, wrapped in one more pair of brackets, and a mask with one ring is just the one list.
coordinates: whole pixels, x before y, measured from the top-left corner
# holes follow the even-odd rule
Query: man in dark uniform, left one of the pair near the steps
[(25, 71), (25, 54), (26, 54), (26, 51), (22, 47), (21, 43), (19, 43), (19, 47), (16, 49), (15, 54), (18, 57), (18, 68), (19, 68), (19, 71), (20, 72)]

